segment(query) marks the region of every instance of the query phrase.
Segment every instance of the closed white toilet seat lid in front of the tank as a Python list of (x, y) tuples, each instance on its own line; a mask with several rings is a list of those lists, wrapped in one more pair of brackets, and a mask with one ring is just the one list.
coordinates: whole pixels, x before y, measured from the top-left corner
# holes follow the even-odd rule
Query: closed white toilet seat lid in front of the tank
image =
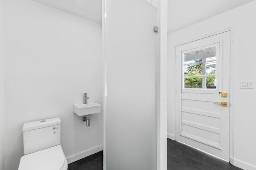
[(18, 170), (60, 170), (65, 162), (61, 145), (21, 157)]

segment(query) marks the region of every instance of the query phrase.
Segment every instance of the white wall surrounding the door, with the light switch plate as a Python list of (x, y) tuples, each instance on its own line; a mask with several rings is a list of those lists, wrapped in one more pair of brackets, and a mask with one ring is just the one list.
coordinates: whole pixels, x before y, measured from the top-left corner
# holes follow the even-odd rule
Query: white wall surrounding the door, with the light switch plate
[[(168, 35), (168, 134), (174, 135), (175, 82), (174, 45), (230, 27), (234, 28), (231, 51), (231, 137), (234, 149), (230, 162), (246, 170), (256, 170), (254, 89), (240, 89), (240, 80), (256, 81), (256, 1)], [(233, 121), (233, 124), (232, 124)]]

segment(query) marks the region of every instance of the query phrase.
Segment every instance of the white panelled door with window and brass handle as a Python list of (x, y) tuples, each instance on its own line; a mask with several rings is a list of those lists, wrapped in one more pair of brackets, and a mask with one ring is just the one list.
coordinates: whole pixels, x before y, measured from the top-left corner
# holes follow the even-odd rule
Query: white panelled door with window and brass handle
[(230, 31), (176, 46), (176, 82), (176, 139), (229, 161)]

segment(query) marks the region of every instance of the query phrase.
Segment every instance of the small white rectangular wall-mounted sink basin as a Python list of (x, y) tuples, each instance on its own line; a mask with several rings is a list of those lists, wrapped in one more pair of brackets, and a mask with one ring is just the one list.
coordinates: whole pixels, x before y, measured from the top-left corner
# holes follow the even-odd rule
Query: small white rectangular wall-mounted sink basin
[(78, 116), (92, 115), (95, 113), (100, 113), (101, 105), (98, 103), (74, 104), (73, 111)]

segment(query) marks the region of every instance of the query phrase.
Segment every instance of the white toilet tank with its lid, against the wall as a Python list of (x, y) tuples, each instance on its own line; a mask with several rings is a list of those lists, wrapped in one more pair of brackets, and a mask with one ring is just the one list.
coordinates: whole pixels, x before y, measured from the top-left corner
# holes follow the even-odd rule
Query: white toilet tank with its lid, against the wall
[(60, 144), (60, 118), (44, 119), (23, 124), (24, 154)]

